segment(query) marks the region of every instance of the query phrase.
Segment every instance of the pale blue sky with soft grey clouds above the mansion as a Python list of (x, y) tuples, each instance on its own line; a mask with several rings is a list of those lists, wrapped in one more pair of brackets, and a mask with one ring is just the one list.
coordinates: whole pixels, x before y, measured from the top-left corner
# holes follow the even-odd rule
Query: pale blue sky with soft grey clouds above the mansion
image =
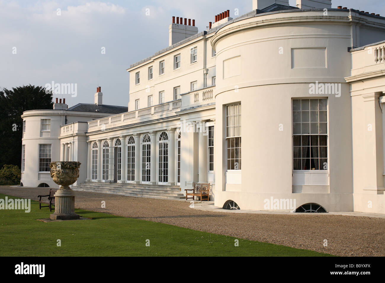
[[(383, 0), (332, 1), (340, 5), (385, 16)], [(73, 84), (76, 95), (54, 94), (70, 107), (94, 103), (101, 86), (103, 104), (126, 106), (126, 69), (168, 47), (172, 16), (195, 19), (201, 32), (235, 9), (250, 12), (252, 0), (0, 0), (0, 89)]]

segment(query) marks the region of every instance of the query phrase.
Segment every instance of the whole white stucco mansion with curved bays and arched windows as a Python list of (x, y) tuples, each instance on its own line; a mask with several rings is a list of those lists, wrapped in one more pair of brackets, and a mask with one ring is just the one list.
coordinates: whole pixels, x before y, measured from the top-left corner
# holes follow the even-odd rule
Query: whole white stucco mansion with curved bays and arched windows
[(173, 17), (170, 46), (127, 69), (128, 112), (24, 112), (23, 185), (54, 186), (42, 162), (73, 160), (77, 189), (181, 198), (198, 182), (218, 207), (385, 213), (385, 18), (330, 0), (253, 9), (200, 33)]

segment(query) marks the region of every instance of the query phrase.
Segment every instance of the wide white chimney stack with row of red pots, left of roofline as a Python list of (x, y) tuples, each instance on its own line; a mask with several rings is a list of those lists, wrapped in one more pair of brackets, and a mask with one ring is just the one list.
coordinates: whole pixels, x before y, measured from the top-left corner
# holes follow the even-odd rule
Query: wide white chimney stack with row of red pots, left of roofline
[(195, 20), (192, 20), (192, 25), (191, 19), (188, 20), (189, 22), (187, 25), (187, 18), (184, 18), (183, 24), (183, 18), (176, 17), (176, 23), (174, 23), (174, 17), (172, 17), (172, 23), (169, 26), (169, 46), (198, 33), (198, 27), (195, 26)]

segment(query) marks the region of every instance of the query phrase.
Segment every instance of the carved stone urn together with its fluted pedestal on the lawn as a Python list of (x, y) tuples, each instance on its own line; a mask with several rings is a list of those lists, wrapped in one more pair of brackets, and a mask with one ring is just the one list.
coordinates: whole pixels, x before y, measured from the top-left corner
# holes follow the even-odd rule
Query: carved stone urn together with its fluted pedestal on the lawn
[(60, 185), (55, 193), (55, 213), (50, 215), (54, 220), (79, 219), (75, 213), (75, 195), (69, 187), (79, 178), (80, 162), (77, 161), (55, 161), (49, 164), (51, 177), (54, 182)]

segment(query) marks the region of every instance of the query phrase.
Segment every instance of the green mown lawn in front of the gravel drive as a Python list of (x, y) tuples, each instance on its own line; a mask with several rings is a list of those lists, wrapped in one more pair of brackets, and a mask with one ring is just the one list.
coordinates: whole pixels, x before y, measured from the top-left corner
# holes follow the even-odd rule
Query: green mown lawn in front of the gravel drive
[(50, 212), (39, 210), (37, 201), (31, 201), (30, 213), (0, 210), (0, 256), (330, 256), (244, 239), (234, 246), (236, 238), (229, 236), (93, 211), (75, 212), (94, 220), (43, 223), (36, 219), (49, 218)]

